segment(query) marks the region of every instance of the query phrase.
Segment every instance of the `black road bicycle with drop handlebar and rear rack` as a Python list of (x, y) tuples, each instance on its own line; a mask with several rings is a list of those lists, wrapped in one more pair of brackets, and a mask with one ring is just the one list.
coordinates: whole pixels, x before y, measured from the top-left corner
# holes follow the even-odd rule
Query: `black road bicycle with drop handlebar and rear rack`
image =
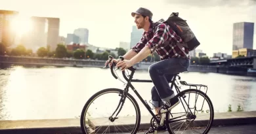
[[(112, 56), (109, 56), (109, 60), (108, 60), (108, 63), (110, 63), (112, 61), (113, 57)], [(123, 60), (123, 57), (119, 56), (119, 59)], [(106, 64), (105, 67), (108, 66), (108, 63)], [(110, 67), (110, 70), (111, 70), (111, 73), (112, 75), (114, 76), (114, 78), (118, 78), (115, 73), (114, 73), (114, 66), (116, 64), (113, 63), (113, 65)], [(213, 105), (211, 103), (211, 100), (209, 99), (209, 97), (206, 95), (207, 93), (207, 86), (205, 85), (202, 85), (202, 84), (187, 84), (185, 81), (182, 81), (181, 80), (181, 76), (179, 76), (179, 73), (176, 74), (173, 79), (171, 80), (171, 89), (173, 88), (173, 86), (175, 87), (175, 90), (177, 92), (177, 97), (181, 100), (181, 103), (182, 104), (182, 107), (181, 109), (184, 109), (184, 113), (183, 112), (177, 112), (177, 113), (174, 113), (174, 112), (171, 112), (171, 111), (168, 111), (168, 112), (165, 112), (165, 113), (162, 113), (162, 114), (154, 114), (152, 112), (152, 108), (150, 108), (150, 106), (148, 105), (148, 103), (146, 101), (144, 101), (144, 99), (142, 99), (142, 97), (140, 96), (140, 94), (137, 92), (137, 90), (134, 88), (134, 86), (131, 84), (131, 82), (152, 82), (152, 80), (139, 80), (139, 79), (133, 79), (133, 75), (135, 74), (135, 68), (133, 67), (129, 67), (127, 70), (131, 71), (131, 75), (127, 75), (126, 76), (126, 73), (125, 71), (122, 71), (122, 75), (123, 77), (125, 78), (125, 80), (127, 81), (127, 84), (124, 88), (124, 90), (121, 90), (121, 89), (117, 89), (117, 88), (107, 88), (105, 90), (100, 90), (99, 92), (96, 92), (93, 96), (91, 96), (89, 98), (89, 100), (87, 101), (87, 103), (85, 103), (84, 107), (83, 107), (83, 110), (81, 112), (81, 119), (80, 119), (80, 124), (81, 124), (81, 129), (83, 131), (83, 133), (85, 134), (88, 134), (88, 133), (98, 133), (98, 132), (102, 132), (102, 133), (106, 133), (107, 131), (109, 131), (110, 133), (112, 132), (119, 132), (119, 133), (124, 133), (125, 131), (131, 131), (130, 133), (134, 134), (134, 133), (137, 133), (137, 131), (139, 130), (139, 127), (140, 127), (140, 107), (137, 103), (137, 101), (135, 100), (135, 98), (130, 94), (128, 93), (129, 92), (129, 88), (131, 88), (131, 90), (133, 90), (133, 92), (135, 93), (135, 95), (137, 95), (137, 97), (139, 98), (139, 100), (143, 103), (144, 107), (146, 107), (146, 109), (148, 110), (148, 112), (150, 112), (152, 118), (150, 120), (150, 126), (154, 128), (155, 130), (155, 133), (157, 133), (157, 128), (159, 126), (163, 126), (165, 125), (167, 127), (167, 131), (169, 133), (172, 133), (174, 134), (175, 132), (176, 133), (179, 133), (181, 131), (181, 129), (188, 129), (188, 127), (191, 127), (193, 128), (193, 131), (199, 131), (200, 129), (202, 129), (202, 127), (205, 127), (206, 126), (206, 129), (202, 132), (203, 134), (206, 134), (209, 132), (209, 130), (211, 129), (211, 126), (213, 124), (213, 118), (214, 118), (214, 110), (213, 110)], [(182, 86), (190, 86), (189, 89), (187, 90), (183, 90), (181, 91), (181, 86), (178, 86), (178, 84), (176, 84), (175, 82), (177, 82), (176, 78), (179, 78), (180, 80), (180, 83)], [(191, 87), (195, 87), (196, 89), (192, 89)], [(198, 89), (198, 87), (200, 87), (200, 89)], [(204, 87), (206, 89), (206, 92), (202, 92), (201, 91), (201, 88)], [(110, 114), (110, 116), (107, 116), (106, 118), (96, 118), (96, 114), (95, 114), (95, 118), (92, 118), (92, 119), (87, 119), (85, 118), (87, 115), (88, 116), (91, 116), (91, 114), (94, 114), (96, 111), (102, 111), (102, 110), (99, 110), (100, 108), (102, 108), (104, 105), (101, 104), (101, 107), (99, 107), (97, 105), (97, 108), (96, 109), (93, 109), (92, 111), (94, 112), (91, 112), (91, 114), (89, 113), (89, 107), (91, 106), (91, 104), (93, 104), (93, 101), (95, 101), (98, 97), (102, 96), (102, 95), (105, 95), (105, 94), (108, 94), (108, 93), (118, 93), (119, 97), (121, 97), (119, 99), (119, 102), (118, 102), (118, 105), (117, 105), (117, 108), (114, 110), (114, 112), (112, 114)], [(196, 93), (196, 99), (195, 99), (195, 105), (194, 107), (190, 107), (189, 103), (190, 101), (184, 101), (184, 103), (182, 102), (182, 100), (186, 99), (187, 98), (187, 93)], [(196, 103), (200, 102), (198, 101), (198, 97), (199, 95), (201, 95), (203, 97), (203, 102), (202, 102), (202, 107), (200, 109), (198, 109), (198, 107), (196, 107)], [(192, 97), (192, 96), (191, 96)], [(190, 98), (190, 95), (188, 95), (188, 99)], [(107, 100), (110, 100), (112, 99), (112, 97), (108, 97), (106, 99), (102, 99), (100, 102), (102, 101), (107, 101)], [(121, 112), (121, 109), (124, 109), (123, 107), (125, 105), (128, 105), (127, 102), (131, 101), (132, 105), (134, 108), (135, 108), (135, 112), (136, 112), (136, 120), (135, 120), (135, 124), (126, 124), (126, 126), (131, 126), (131, 125), (134, 125), (134, 127), (130, 127), (130, 128), (126, 128), (121, 130), (121, 128), (119, 128), (119, 126), (101, 126), (100, 123), (98, 122), (102, 122), (103, 120), (108, 120), (110, 122), (115, 122), (117, 119), (120, 119), (122, 120), (130, 120), (131, 117), (117, 117), (117, 115)], [(204, 115), (204, 110), (203, 108), (204, 107), (204, 103), (205, 101), (209, 104), (209, 110), (206, 110), (206, 113), (209, 113), (211, 112), (210, 116), (209, 116), (209, 122), (205, 124), (205, 118), (201, 118), (201, 121), (203, 121), (204, 125), (201, 125), (201, 126), (194, 126), (194, 124), (197, 124), (198, 122), (195, 121), (195, 119), (197, 118), (196, 116), (196, 113), (198, 112), (203, 112), (201, 113), (202, 115)], [(112, 101), (112, 103), (114, 103), (116, 101)], [(124, 105), (125, 104), (125, 105)], [(108, 105), (108, 107), (110, 107), (112, 105)], [(185, 108), (185, 106), (188, 106), (188, 108)], [(193, 106), (193, 105), (192, 105)], [(176, 106), (178, 107), (178, 105)], [(175, 107), (175, 108), (176, 108)], [(128, 110), (122, 110), (122, 112), (128, 112), (128, 111), (131, 111), (132, 107), (129, 107)], [(174, 109), (175, 109), (174, 108)], [(192, 110), (194, 109), (194, 112), (192, 112)], [(104, 109), (103, 109), (104, 110)], [(109, 110), (108, 108), (106, 108), (106, 110)], [(104, 110), (103, 113), (106, 113), (106, 110)], [(197, 111), (197, 112), (196, 112)], [(183, 113), (183, 114), (182, 114)], [(114, 116), (114, 114), (116, 114)], [(177, 117), (173, 117), (174, 114), (177, 114), (178, 116)], [(170, 118), (171, 117), (171, 118)], [(183, 117), (183, 118), (182, 118)], [(179, 119), (178, 119), (179, 118)], [(181, 124), (181, 121), (184, 120), (183, 124), (181, 127), (179, 127), (179, 130), (178, 131), (175, 131), (175, 126), (177, 126), (177, 124)], [(109, 123), (110, 123), (109, 122)], [(192, 124), (190, 124), (192, 122)], [(175, 124), (176, 125), (171, 125), (171, 123)], [(98, 124), (98, 126), (97, 126)], [(185, 126), (184, 126), (185, 125)]]

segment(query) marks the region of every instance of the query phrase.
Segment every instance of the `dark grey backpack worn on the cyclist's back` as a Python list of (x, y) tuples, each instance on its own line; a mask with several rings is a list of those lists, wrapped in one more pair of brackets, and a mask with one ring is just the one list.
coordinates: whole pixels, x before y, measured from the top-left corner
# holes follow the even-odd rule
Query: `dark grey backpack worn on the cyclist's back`
[(164, 23), (169, 25), (181, 37), (185, 42), (182, 46), (188, 48), (189, 51), (196, 49), (200, 45), (186, 20), (179, 17), (179, 12), (173, 12)]

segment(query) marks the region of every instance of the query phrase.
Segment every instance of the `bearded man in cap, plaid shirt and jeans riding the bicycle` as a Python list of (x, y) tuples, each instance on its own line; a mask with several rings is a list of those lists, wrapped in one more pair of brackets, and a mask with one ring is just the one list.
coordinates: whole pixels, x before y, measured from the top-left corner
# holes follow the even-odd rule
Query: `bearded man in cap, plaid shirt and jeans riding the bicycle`
[[(123, 61), (114, 59), (116, 67), (121, 71), (135, 65), (149, 54), (157, 52), (161, 61), (150, 65), (148, 72), (154, 84), (152, 88), (152, 103), (156, 114), (167, 112), (180, 103), (175, 97), (169, 82), (174, 74), (186, 71), (190, 65), (188, 49), (181, 44), (184, 43), (173, 29), (164, 22), (152, 22), (152, 12), (147, 8), (140, 7), (131, 16), (135, 18), (138, 29), (144, 29), (140, 41), (127, 52)], [(111, 63), (110, 63), (111, 64)], [(158, 131), (165, 130), (166, 127), (158, 128)], [(146, 133), (154, 133), (150, 127)]]

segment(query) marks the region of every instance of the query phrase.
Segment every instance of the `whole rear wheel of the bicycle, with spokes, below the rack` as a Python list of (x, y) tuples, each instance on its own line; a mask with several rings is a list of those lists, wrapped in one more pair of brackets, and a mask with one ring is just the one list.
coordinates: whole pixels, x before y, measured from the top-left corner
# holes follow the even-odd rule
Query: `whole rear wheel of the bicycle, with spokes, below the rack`
[[(184, 90), (178, 93), (177, 97), (179, 97), (181, 103), (171, 112), (166, 113), (165, 120), (180, 121), (166, 123), (169, 133), (207, 134), (211, 129), (214, 118), (213, 104), (209, 97), (202, 91), (194, 89)], [(175, 117), (177, 118), (175, 119)]]

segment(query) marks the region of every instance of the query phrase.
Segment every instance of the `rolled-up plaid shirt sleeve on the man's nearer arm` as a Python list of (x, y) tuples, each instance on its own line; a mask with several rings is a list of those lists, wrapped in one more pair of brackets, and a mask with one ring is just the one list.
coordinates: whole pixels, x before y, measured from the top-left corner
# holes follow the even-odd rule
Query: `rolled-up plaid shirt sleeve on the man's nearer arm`
[(167, 41), (167, 39), (168, 39), (167, 25), (160, 24), (158, 25), (158, 27), (156, 27), (154, 37), (146, 43), (146, 46), (150, 48), (152, 53), (156, 50), (156, 48), (161, 47), (163, 42)]

